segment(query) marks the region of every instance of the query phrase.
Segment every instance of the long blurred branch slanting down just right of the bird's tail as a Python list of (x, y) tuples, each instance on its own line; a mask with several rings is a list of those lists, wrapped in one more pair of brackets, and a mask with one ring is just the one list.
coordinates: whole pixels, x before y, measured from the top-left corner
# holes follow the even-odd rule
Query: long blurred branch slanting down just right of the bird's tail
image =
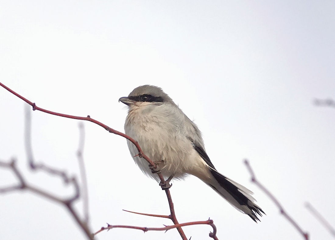
[(268, 195), (268, 197), (274, 202), (274, 204), (276, 204), (276, 206), (279, 208), (280, 213), (287, 219), (287, 221), (289, 221), (294, 228), (306, 239), (309, 239), (309, 235), (308, 233), (305, 233), (300, 227), (299, 225), (287, 214), (287, 212), (284, 210), (284, 208), (282, 207), (282, 205), (279, 203), (279, 201), (277, 200), (277, 198), (275, 198), (275, 196), (273, 196), (270, 191), (265, 188), (263, 186), (263, 184), (261, 184), (255, 176), (254, 171), (252, 170), (249, 161), (247, 159), (244, 160), (245, 165), (247, 166), (247, 169), (251, 175), (251, 181), (253, 183), (255, 183), (266, 195)]

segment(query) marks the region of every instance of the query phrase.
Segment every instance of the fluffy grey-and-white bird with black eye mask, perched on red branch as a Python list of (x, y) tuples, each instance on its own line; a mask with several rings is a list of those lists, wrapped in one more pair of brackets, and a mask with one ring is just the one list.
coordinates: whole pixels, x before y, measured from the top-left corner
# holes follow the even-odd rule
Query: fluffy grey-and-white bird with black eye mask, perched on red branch
[[(136, 87), (119, 102), (128, 106), (125, 134), (135, 139), (167, 181), (193, 175), (211, 187), (256, 223), (263, 210), (248, 188), (219, 173), (209, 159), (197, 125), (174, 101), (154, 85)], [(136, 146), (127, 140), (135, 163), (142, 172), (159, 181), (158, 175), (140, 158)]]

